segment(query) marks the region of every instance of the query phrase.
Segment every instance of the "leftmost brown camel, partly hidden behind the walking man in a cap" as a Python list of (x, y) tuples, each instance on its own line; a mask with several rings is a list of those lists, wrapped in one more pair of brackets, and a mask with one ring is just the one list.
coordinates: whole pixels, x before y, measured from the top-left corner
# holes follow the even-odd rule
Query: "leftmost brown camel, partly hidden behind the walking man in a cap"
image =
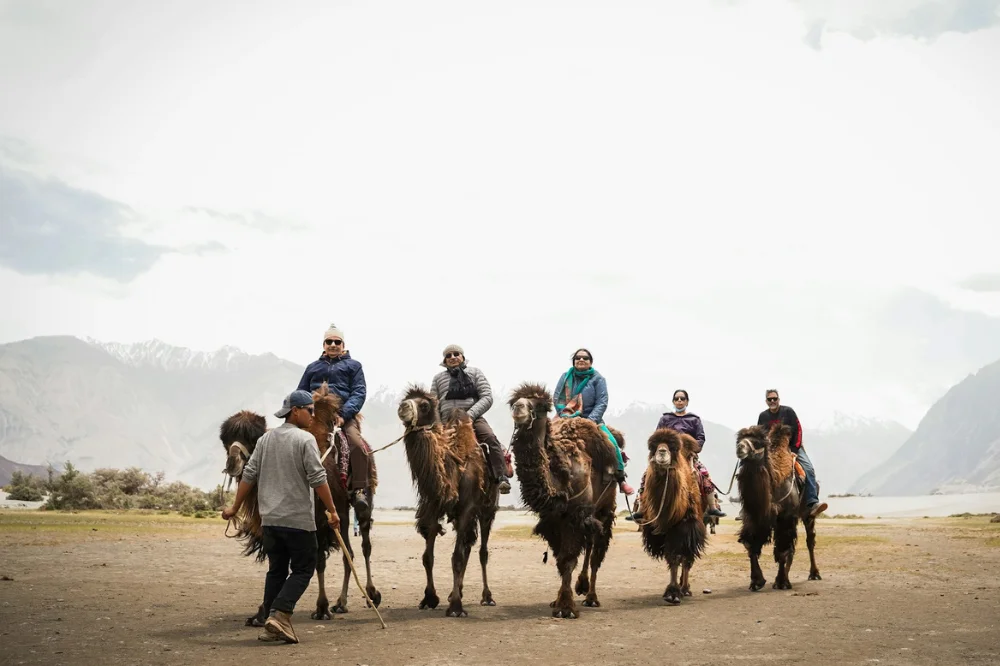
[[(327, 481), (330, 486), (330, 494), (333, 495), (333, 503), (337, 508), (337, 515), (340, 517), (340, 534), (347, 546), (348, 553), (352, 559), (354, 549), (348, 536), (350, 524), (350, 502), (347, 494), (347, 443), (343, 435), (337, 438), (332, 437), (334, 431), (334, 417), (340, 413), (342, 401), (340, 396), (331, 393), (329, 387), (324, 383), (319, 389), (313, 391), (313, 401), (315, 417), (309, 432), (316, 438), (319, 452), (322, 456), (330, 448), (331, 442), (336, 445), (333, 451), (323, 460), (323, 467), (326, 469)], [(360, 424), (360, 415), (358, 416)], [(263, 416), (251, 411), (243, 410), (227, 418), (219, 429), (219, 438), (226, 449), (226, 474), (237, 483), (243, 476), (243, 468), (257, 445), (257, 440), (267, 431), (267, 422)], [(339, 434), (339, 433), (338, 433)], [(368, 505), (372, 506), (375, 490), (378, 486), (378, 472), (373, 456), (368, 456), (368, 478), (369, 487), (366, 491)], [(261, 527), (260, 513), (257, 508), (257, 488), (251, 489), (250, 494), (244, 501), (237, 516), (236, 537), (244, 543), (243, 555), (254, 555), (256, 561), (262, 562), (267, 553), (263, 550), (263, 530)], [(378, 606), (382, 602), (382, 593), (375, 587), (372, 581), (371, 571), (371, 519), (359, 525), (361, 531), (361, 551), (365, 556), (365, 568), (368, 578), (365, 591), (372, 603)], [(312, 613), (314, 620), (329, 620), (330, 602), (326, 596), (326, 560), (332, 550), (339, 550), (340, 546), (326, 520), (322, 502), (316, 500), (316, 578), (319, 583), (319, 595), (316, 599), (316, 610)], [(350, 583), (351, 570), (344, 560), (344, 580), (341, 586), (340, 596), (333, 607), (335, 613), (347, 612), (347, 590)], [(366, 602), (367, 604), (367, 602)], [(263, 604), (257, 608), (256, 614), (247, 618), (247, 626), (262, 627), (267, 619), (266, 609)]]

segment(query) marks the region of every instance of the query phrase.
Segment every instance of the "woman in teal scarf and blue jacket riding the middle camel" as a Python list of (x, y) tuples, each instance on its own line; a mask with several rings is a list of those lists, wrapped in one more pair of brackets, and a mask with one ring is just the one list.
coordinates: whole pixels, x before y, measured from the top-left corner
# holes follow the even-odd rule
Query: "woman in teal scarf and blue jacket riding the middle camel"
[(618, 447), (614, 435), (604, 425), (604, 412), (608, 409), (608, 384), (604, 377), (594, 370), (594, 355), (589, 350), (577, 349), (570, 360), (573, 361), (573, 367), (563, 373), (552, 393), (556, 403), (556, 416), (558, 418), (582, 416), (600, 427), (614, 444), (615, 457), (618, 460), (618, 468), (615, 470), (618, 488), (626, 495), (631, 495), (635, 490), (625, 482), (625, 459), (622, 457), (622, 450)]

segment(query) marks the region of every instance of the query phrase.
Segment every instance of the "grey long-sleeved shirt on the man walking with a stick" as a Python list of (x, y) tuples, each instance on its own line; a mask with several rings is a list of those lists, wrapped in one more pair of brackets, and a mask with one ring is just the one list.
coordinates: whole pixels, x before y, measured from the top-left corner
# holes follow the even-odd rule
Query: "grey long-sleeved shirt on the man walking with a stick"
[(312, 433), (291, 423), (266, 432), (257, 440), (242, 480), (257, 484), (263, 525), (316, 531), (312, 489), (326, 483), (326, 470)]

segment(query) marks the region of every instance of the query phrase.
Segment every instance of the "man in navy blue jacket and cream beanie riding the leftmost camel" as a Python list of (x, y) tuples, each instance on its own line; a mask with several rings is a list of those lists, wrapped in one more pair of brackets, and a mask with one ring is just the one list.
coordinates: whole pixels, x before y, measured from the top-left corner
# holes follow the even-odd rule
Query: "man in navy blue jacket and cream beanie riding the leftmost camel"
[(340, 408), (337, 425), (347, 436), (351, 449), (351, 504), (358, 520), (365, 522), (371, 515), (371, 508), (365, 499), (365, 489), (368, 487), (368, 452), (355, 417), (365, 404), (368, 389), (361, 363), (351, 358), (344, 342), (344, 334), (334, 324), (330, 324), (323, 336), (323, 355), (306, 367), (298, 388), (312, 392), (322, 386), (323, 382), (344, 403)]

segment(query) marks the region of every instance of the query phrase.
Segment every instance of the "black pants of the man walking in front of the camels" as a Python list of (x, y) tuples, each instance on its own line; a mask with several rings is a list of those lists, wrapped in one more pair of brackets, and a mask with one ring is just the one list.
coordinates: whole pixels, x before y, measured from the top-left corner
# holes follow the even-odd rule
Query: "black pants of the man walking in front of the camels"
[(265, 525), (264, 551), (269, 565), (264, 579), (264, 613), (291, 613), (316, 570), (316, 533)]

